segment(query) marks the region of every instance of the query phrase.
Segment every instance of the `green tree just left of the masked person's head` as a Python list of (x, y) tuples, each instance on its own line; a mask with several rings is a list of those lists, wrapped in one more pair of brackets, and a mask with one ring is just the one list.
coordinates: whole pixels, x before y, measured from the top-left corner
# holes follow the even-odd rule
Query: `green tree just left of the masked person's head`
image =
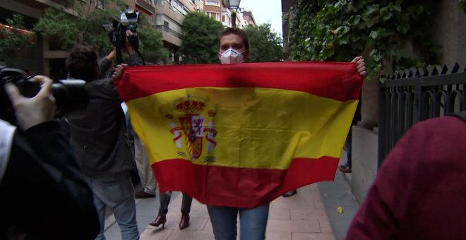
[(222, 23), (203, 13), (188, 13), (183, 20), (181, 64), (218, 63), (217, 35), (222, 29)]

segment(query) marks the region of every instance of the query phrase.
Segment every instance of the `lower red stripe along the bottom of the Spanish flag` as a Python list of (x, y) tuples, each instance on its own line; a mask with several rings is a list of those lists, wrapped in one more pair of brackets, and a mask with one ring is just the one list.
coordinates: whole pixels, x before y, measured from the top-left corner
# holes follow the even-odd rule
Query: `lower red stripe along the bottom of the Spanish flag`
[(287, 191), (318, 181), (333, 181), (338, 160), (297, 158), (287, 170), (216, 167), (188, 160), (152, 165), (160, 191), (182, 191), (207, 205), (255, 208)]

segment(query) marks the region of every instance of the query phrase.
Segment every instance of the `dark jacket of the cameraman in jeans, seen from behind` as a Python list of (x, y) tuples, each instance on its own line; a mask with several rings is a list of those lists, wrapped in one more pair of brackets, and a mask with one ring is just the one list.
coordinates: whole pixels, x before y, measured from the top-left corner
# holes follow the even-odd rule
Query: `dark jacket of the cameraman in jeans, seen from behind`
[[(140, 62), (130, 56), (130, 65)], [(134, 169), (133, 152), (126, 134), (121, 100), (112, 79), (92, 80), (85, 84), (88, 108), (81, 119), (68, 119), (70, 143), (85, 175), (105, 176)]]

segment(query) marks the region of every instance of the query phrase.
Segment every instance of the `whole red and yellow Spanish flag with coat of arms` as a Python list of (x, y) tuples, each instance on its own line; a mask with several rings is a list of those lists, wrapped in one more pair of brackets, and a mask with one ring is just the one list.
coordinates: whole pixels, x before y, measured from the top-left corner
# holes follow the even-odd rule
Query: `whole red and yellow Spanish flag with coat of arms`
[(115, 85), (161, 191), (254, 208), (333, 180), (362, 78), (351, 63), (138, 66)]

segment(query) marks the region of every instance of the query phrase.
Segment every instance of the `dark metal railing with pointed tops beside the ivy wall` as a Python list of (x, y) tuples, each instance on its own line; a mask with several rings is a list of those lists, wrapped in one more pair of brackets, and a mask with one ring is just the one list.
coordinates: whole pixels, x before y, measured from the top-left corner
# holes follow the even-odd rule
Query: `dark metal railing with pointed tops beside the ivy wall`
[(430, 66), (396, 71), (381, 84), (378, 166), (398, 139), (418, 121), (466, 110), (466, 66)]

